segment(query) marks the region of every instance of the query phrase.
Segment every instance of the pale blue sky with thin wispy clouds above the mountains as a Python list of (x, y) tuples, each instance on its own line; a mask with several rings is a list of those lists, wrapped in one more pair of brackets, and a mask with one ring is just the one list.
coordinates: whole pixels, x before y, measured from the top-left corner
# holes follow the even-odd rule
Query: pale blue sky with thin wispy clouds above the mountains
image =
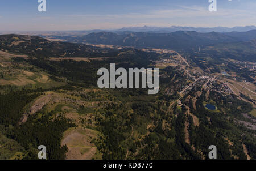
[[(0, 0), (0, 31), (68, 31), (122, 27), (256, 25), (256, 0)], [(213, 0), (211, 0), (213, 1)]]

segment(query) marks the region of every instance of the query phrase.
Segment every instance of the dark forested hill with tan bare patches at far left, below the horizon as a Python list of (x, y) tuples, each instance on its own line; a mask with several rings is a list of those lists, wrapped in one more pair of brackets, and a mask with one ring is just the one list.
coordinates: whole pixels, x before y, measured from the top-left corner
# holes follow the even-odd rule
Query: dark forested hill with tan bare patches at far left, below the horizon
[(108, 52), (106, 49), (84, 44), (49, 41), (42, 37), (27, 35), (1, 35), (0, 45), (2, 51), (32, 57), (86, 57)]

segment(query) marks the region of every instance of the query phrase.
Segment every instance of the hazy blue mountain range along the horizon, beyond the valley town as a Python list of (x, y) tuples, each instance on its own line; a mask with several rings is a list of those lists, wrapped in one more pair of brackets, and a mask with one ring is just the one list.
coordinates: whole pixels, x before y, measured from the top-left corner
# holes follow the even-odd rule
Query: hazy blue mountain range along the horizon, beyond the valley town
[[(47, 36), (44, 36), (47, 38)], [(256, 59), (256, 30), (247, 32), (177, 31), (171, 33), (114, 33), (94, 32), (85, 36), (51, 36), (52, 39), (80, 44), (104, 44), (130, 46), (134, 48), (160, 48), (178, 51), (208, 52), (220, 58), (248, 61)]]

